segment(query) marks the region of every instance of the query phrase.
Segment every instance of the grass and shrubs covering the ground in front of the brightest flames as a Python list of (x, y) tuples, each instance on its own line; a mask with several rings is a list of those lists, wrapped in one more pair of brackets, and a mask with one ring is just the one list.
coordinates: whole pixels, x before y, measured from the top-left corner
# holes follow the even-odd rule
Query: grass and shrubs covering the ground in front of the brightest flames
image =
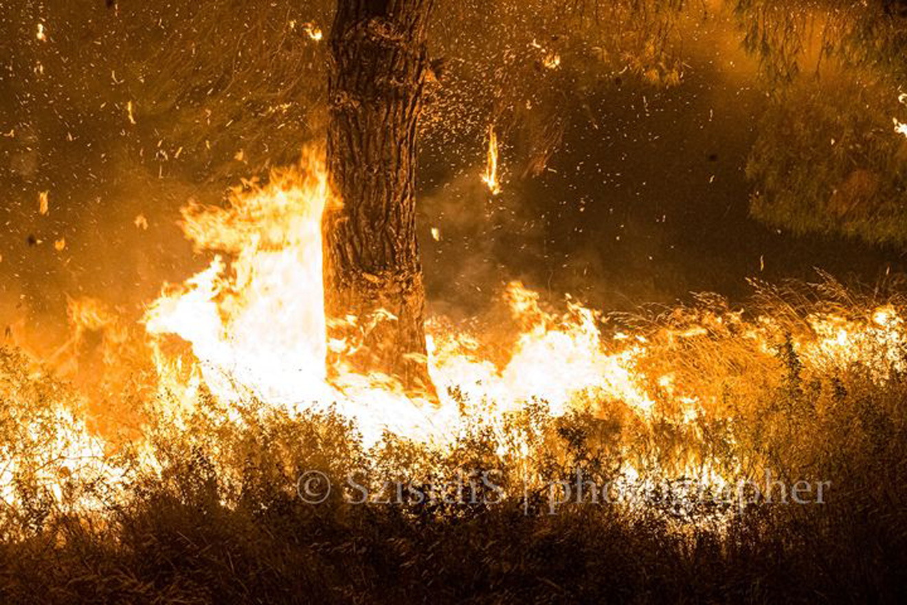
[[(781, 294), (767, 348), (755, 319), (703, 308), (649, 330), (669, 356), (645, 366), (714, 394), (695, 417), (534, 401), (443, 447), (202, 392), (149, 410), (141, 447), (80, 445), (102, 460), (85, 470), (61, 454), (84, 436), (77, 397), (5, 350), (0, 602), (903, 602), (901, 303), (821, 303), (846, 328), (824, 351), (798, 337), (825, 329), (820, 303)], [(687, 340), (659, 344), (667, 327)], [(788, 496), (824, 483), (822, 502), (734, 487), (766, 473)], [(645, 497), (595, 501), (578, 478)]]

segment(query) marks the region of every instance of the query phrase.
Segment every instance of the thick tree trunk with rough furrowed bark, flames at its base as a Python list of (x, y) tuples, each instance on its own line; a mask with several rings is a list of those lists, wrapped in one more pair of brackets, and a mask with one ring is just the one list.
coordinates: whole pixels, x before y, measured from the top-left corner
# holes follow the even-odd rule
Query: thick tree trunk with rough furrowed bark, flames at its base
[(323, 221), (327, 317), (357, 317), (328, 336), (356, 344), (345, 356), (356, 370), (429, 391), (415, 164), (433, 2), (338, 0), (327, 127), (337, 201)]

